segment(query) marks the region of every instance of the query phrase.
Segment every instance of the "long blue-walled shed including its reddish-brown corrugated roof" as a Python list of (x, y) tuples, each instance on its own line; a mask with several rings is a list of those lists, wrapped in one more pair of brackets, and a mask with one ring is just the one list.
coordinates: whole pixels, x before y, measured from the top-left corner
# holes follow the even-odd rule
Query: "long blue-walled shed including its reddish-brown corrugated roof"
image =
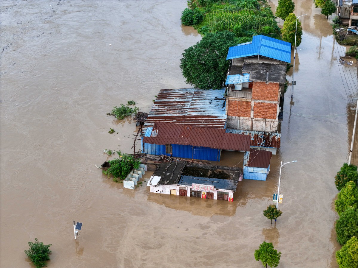
[(142, 152), (178, 158), (220, 161), (221, 150), (250, 150), (250, 136), (225, 129), (156, 122), (141, 137)]

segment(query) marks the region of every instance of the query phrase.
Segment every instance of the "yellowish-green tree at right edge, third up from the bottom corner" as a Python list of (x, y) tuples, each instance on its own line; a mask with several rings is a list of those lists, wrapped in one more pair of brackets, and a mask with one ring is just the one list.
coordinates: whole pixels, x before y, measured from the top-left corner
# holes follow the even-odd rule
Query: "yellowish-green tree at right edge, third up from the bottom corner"
[(355, 182), (349, 181), (338, 193), (337, 200), (334, 201), (338, 215), (341, 215), (348, 207), (357, 209), (358, 207), (358, 187)]

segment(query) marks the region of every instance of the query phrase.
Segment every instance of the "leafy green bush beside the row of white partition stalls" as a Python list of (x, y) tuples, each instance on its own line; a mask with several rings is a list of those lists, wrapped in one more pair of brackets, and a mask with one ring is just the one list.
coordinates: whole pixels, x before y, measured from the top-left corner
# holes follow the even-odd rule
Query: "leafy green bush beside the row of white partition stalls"
[(124, 180), (131, 170), (139, 168), (140, 164), (140, 160), (135, 159), (133, 155), (122, 154), (121, 151), (117, 151), (117, 154), (119, 158), (109, 160), (110, 167), (107, 170), (102, 170), (108, 178), (112, 175), (115, 182), (118, 182), (118, 178)]

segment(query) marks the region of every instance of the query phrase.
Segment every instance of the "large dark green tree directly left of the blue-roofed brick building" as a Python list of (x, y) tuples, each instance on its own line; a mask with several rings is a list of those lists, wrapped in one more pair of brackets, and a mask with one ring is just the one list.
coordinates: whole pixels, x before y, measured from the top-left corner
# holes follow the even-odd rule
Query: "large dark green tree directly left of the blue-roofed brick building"
[(200, 89), (219, 89), (225, 85), (230, 61), (226, 60), (230, 46), (238, 44), (229, 31), (208, 33), (200, 42), (185, 49), (180, 69), (186, 83)]

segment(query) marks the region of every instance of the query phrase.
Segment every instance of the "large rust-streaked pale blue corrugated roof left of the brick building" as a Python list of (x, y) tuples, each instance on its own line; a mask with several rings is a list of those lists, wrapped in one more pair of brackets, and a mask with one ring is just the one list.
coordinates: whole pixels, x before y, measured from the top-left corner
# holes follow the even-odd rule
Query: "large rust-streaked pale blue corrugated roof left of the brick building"
[(150, 110), (144, 127), (154, 122), (170, 122), (224, 128), (225, 89), (201, 90), (195, 88), (162, 89)]

